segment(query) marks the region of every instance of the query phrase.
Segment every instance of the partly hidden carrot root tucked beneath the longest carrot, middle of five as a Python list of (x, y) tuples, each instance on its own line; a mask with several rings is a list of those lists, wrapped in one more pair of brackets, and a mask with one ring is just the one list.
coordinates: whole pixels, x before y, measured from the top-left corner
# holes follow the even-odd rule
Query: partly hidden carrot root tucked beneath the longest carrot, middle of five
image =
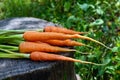
[(54, 46), (85, 46), (85, 44), (70, 39), (67, 40), (45, 40), (43, 41)]

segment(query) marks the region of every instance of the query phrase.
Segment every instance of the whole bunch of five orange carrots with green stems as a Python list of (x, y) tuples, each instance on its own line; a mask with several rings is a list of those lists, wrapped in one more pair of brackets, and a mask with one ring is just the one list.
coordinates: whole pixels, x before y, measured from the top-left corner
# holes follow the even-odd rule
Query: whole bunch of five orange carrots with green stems
[[(97, 40), (80, 35), (85, 33), (86, 32), (76, 32), (55, 26), (47, 26), (44, 29), (37, 31), (0, 30), (0, 58), (30, 58), (34, 61), (64, 60), (99, 65), (62, 55), (51, 54), (57, 52), (77, 51), (75, 49), (63, 48), (60, 46), (87, 46), (83, 43), (71, 40), (74, 38), (90, 40), (110, 49)], [(29, 54), (17, 54), (18, 52)]]

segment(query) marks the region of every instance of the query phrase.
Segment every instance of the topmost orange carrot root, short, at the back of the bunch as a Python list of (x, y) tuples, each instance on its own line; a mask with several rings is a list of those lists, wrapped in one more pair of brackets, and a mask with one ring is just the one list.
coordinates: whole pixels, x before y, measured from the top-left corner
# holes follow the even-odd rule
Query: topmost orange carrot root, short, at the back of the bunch
[(70, 30), (67, 28), (63, 28), (63, 27), (55, 27), (55, 26), (46, 26), (44, 28), (45, 32), (57, 32), (57, 33), (65, 33), (65, 34), (85, 34), (87, 32), (77, 32), (74, 30)]

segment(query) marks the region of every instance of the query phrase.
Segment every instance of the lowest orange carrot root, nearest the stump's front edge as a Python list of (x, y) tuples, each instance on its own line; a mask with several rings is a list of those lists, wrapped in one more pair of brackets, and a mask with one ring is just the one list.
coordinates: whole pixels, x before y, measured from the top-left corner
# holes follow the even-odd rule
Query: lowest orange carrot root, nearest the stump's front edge
[(56, 61), (56, 60), (60, 61), (61, 60), (61, 61), (79, 62), (79, 63), (84, 63), (84, 64), (101, 65), (101, 64), (96, 64), (92, 62), (73, 59), (70, 57), (62, 56), (62, 55), (48, 54), (44, 52), (32, 52), (30, 54), (30, 59), (34, 61)]

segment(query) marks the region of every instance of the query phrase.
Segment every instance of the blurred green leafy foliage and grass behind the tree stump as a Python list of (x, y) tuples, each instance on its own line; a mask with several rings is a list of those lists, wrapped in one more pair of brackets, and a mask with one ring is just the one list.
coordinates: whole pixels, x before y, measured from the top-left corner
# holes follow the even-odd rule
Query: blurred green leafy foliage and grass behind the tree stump
[(0, 19), (37, 17), (90, 36), (112, 48), (112, 51), (82, 41), (93, 49), (76, 47), (87, 55), (76, 53), (75, 58), (105, 63), (94, 66), (75, 63), (76, 73), (83, 80), (120, 79), (120, 0), (0, 0)]

